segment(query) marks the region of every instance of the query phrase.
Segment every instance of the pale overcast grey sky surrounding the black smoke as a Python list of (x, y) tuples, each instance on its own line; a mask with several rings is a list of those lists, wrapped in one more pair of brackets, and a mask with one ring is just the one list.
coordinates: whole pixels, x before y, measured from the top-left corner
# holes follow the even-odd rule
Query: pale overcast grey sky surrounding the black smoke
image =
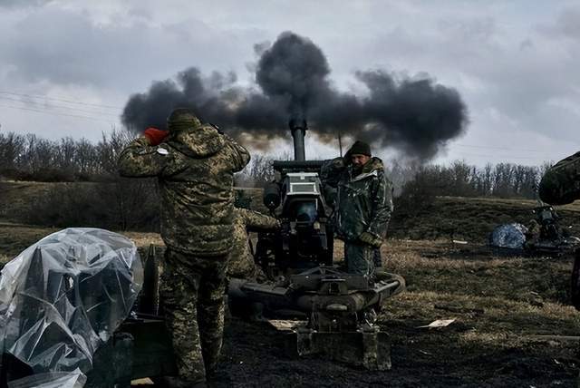
[[(254, 44), (285, 31), (323, 50), (339, 89), (382, 69), (458, 90), (469, 127), (437, 162), (580, 150), (577, 1), (0, 0), (0, 131), (98, 141), (132, 93), (190, 66), (251, 84)], [(309, 145), (311, 157), (335, 152)]]

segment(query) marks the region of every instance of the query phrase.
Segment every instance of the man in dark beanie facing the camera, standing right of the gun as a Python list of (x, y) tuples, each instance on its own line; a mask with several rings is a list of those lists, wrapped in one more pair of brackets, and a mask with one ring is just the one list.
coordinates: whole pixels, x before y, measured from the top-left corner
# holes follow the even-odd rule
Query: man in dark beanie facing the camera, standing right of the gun
[(336, 188), (334, 223), (344, 241), (348, 272), (372, 276), (373, 257), (392, 213), (392, 185), (382, 160), (372, 157), (368, 144), (356, 141), (344, 158), (324, 163), (321, 179)]

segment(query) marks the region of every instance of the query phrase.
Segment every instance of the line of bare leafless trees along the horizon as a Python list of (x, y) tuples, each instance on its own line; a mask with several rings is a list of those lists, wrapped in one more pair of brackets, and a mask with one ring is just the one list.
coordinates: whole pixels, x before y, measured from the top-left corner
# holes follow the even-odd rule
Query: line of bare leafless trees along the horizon
[[(0, 177), (36, 181), (102, 181), (115, 179), (116, 162), (123, 147), (134, 134), (113, 130), (93, 143), (67, 137), (58, 141), (34, 134), (0, 133)], [(237, 184), (263, 186), (274, 178), (272, 160), (256, 154), (247, 169), (237, 176)], [(283, 155), (281, 159), (289, 159)], [(397, 192), (409, 182), (429, 189), (434, 195), (459, 197), (536, 197), (536, 186), (549, 163), (524, 166), (514, 163), (488, 163), (484, 167), (457, 160), (449, 166), (385, 163)]]

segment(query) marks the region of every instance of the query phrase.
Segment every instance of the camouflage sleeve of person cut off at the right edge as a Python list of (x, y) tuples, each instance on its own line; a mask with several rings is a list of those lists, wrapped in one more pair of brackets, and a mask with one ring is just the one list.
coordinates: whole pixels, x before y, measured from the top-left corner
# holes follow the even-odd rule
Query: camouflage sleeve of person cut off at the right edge
[(580, 199), (580, 152), (547, 170), (537, 191), (540, 199), (550, 205), (565, 205)]

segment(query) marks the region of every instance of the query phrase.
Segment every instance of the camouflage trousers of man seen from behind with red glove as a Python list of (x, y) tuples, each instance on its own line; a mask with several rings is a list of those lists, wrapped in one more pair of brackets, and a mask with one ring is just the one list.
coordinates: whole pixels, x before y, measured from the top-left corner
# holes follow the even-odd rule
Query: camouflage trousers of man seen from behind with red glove
[(226, 267), (227, 257), (165, 251), (161, 301), (179, 378), (190, 383), (205, 381), (218, 364)]

